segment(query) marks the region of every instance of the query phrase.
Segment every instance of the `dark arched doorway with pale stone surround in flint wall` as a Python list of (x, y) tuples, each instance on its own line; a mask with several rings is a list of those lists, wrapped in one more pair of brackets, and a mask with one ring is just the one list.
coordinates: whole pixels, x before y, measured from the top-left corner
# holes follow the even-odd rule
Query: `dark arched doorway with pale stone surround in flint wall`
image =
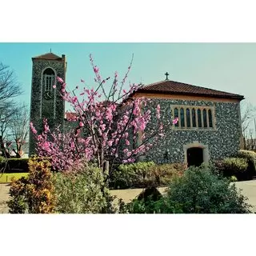
[(202, 163), (208, 163), (210, 160), (208, 145), (198, 141), (183, 146), (184, 162), (188, 166), (201, 166)]

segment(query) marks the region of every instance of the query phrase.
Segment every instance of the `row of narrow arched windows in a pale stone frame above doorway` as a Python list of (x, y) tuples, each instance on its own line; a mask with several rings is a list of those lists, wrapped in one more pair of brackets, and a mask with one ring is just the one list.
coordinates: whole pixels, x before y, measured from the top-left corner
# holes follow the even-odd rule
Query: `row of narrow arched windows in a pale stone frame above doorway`
[(175, 130), (216, 130), (214, 106), (172, 106)]

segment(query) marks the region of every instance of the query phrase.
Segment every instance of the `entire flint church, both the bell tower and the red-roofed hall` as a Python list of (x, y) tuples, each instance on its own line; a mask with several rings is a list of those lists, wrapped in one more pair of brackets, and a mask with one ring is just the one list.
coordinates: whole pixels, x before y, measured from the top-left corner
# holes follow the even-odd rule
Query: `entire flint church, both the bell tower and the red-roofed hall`
[[(66, 57), (48, 53), (32, 61), (30, 122), (40, 132), (42, 120), (47, 118), (51, 129), (60, 125), (63, 130), (65, 102), (58, 94), (61, 85), (56, 77), (65, 82)], [(162, 82), (143, 86), (131, 96), (150, 98), (152, 113), (159, 104), (162, 121), (169, 127), (161, 143), (143, 157), (146, 161), (185, 162), (198, 166), (202, 162), (233, 156), (240, 149), (242, 95), (174, 82), (166, 77)], [(154, 115), (151, 118), (154, 123)], [(173, 118), (178, 118), (178, 123), (170, 126)], [(30, 155), (34, 154), (34, 148), (30, 132)]]

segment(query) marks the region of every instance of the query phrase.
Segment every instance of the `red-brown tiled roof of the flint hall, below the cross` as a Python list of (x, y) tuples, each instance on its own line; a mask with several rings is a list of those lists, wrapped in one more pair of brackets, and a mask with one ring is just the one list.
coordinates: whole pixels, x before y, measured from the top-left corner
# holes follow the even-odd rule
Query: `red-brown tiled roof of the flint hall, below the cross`
[(213, 90), (201, 86), (192, 86), (183, 82), (174, 82), (170, 80), (155, 82), (147, 86), (142, 86), (142, 88), (138, 89), (137, 92), (154, 94), (186, 94), (214, 98), (238, 98), (241, 100), (244, 98), (239, 94), (230, 94), (221, 90)]

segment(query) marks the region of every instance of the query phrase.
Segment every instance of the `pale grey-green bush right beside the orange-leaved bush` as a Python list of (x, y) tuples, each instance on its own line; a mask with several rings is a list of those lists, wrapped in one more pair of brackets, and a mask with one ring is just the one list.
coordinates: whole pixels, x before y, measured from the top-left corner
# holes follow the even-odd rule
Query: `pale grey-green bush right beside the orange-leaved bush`
[(85, 165), (78, 173), (54, 174), (56, 210), (61, 214), (114, 213), (101, 170)]

